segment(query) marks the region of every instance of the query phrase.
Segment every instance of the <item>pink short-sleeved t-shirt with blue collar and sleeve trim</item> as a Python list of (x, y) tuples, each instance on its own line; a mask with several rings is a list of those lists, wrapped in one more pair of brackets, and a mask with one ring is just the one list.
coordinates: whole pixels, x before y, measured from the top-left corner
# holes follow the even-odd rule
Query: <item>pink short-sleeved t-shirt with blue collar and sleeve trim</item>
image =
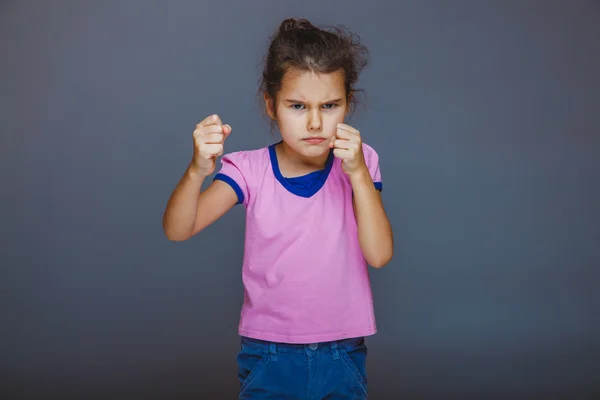
[[(325, 168), (284, 178), (275, 144), (222, 157), (214, 179), (246, 208), (242, 336), (314, 343), (377, 331), (368, 267), (358, 242), (352, 186), (331, 151)], [(378, 155), (363, 144), (375, 187)]]

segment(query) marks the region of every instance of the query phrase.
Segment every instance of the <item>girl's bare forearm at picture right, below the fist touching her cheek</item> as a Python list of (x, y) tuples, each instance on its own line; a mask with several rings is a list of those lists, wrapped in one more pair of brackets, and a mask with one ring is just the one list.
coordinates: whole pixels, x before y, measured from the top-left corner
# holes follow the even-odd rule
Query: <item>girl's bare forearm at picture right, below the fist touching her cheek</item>
[(351, 176), (350, 181), (361, 250), (371, 266), (383, 267), (392, 259), (394, 241), (381, 194), (366, 169)]

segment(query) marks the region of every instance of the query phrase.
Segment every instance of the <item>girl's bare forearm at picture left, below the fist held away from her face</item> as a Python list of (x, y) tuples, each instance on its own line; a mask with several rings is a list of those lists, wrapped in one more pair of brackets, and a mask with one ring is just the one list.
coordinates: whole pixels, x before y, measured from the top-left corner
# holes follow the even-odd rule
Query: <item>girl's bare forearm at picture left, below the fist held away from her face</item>
[(192, 236), (205, 178), (190, 164), (171, 194), (163, 216), (163, 230), (170, 240), (186, 240)]

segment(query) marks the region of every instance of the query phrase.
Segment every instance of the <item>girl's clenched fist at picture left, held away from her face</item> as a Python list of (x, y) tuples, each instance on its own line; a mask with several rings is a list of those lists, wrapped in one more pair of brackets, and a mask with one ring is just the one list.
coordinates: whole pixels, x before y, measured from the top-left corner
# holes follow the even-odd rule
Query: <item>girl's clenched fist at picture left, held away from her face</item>
[(231, 126), (223, 125), (218, 115), (211, 115), (196, 125), (192, 164), (198, 173), (209, 176), (214, 172), (217, 157), (223, 155), (223, 142), (230, 133)]

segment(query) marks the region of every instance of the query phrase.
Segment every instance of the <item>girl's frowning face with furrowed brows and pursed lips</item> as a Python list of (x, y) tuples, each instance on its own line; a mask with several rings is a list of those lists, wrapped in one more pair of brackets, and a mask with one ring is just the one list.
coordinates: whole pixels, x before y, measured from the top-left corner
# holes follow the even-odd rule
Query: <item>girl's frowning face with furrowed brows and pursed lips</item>
[[(275, 114), (267, 99), (267, 112)], [(288, 71), (277, 94), (277, 124), (284, 142), (305, 157), (329, 152), (337, 124), (348, 112), (344, 73)]]

